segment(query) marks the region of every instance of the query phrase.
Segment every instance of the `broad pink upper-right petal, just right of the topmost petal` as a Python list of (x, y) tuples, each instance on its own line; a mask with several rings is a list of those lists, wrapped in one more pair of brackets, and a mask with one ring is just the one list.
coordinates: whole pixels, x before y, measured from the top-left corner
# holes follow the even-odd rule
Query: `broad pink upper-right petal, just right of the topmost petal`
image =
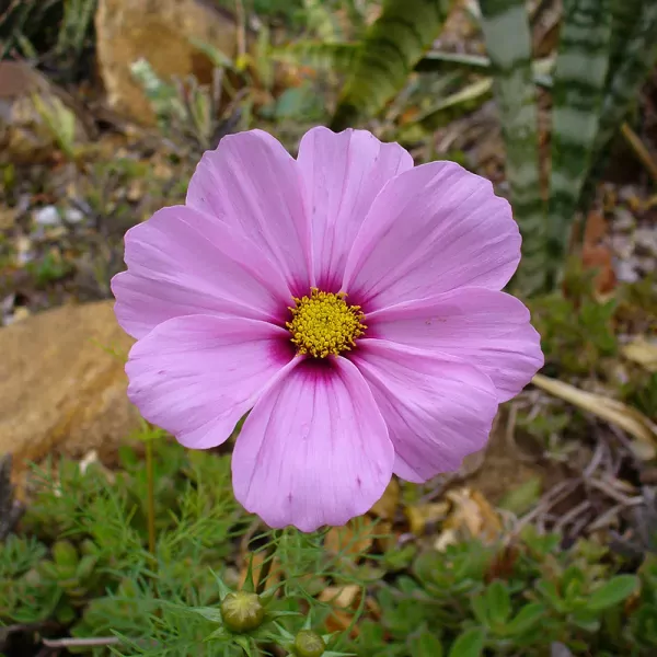
[(367, 310), (462, 286), (502, 289), (520, 260), (509, 204), (453, 162), (406, 171), (376, 198), (343, 289)]

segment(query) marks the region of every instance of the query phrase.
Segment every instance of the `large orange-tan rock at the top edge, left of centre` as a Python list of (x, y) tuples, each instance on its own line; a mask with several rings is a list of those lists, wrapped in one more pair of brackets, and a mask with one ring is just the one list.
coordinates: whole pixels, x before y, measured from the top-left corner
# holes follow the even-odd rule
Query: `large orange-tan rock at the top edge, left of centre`
[(110, 106), (142, 124), (154, 115), (130, 66), (146, 59), (159, 78), (193, 74), (212, 79), (212, 62), (192, 42), (211, 45), (229, 58), (238, 50), (232, 15), (209, 0), (100, 0), (95, 14), (99, 67)]

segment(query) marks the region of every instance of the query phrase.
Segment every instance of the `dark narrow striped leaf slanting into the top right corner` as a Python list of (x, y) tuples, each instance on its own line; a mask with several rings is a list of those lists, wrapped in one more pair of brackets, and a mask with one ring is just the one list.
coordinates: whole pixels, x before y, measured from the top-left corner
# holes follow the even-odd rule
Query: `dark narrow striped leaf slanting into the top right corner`
[[(634, 0), (613, 0), (613, 2), (616, 5), (622, 2), (634, 2)], [(627, 30), (630, 33), (626, 32)], [(657, 61), (657, 2), (643, 0), (634, 21), (626, 20), (625, 14), (616, 8), (612, 44), (616, 44), (621, 54), (616, 56), (615, 62), (612, 62), (607, 78), (600, 127), (593, 146), (593, 165), (579, 200), (581, 209), (586, 209), (590, 203), (595, 182), (607, 164), (611, 141)]]

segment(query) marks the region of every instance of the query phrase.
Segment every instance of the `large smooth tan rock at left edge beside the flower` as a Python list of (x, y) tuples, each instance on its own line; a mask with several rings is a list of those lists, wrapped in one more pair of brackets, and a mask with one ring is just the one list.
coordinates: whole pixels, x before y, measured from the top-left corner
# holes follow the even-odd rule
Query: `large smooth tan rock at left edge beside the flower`
[(139, 426), (126, 396), (132, 341), (113, 301), (65, 306), (0, 328), (0, 458), (20, 476), (49, 453), (112, 458)]

